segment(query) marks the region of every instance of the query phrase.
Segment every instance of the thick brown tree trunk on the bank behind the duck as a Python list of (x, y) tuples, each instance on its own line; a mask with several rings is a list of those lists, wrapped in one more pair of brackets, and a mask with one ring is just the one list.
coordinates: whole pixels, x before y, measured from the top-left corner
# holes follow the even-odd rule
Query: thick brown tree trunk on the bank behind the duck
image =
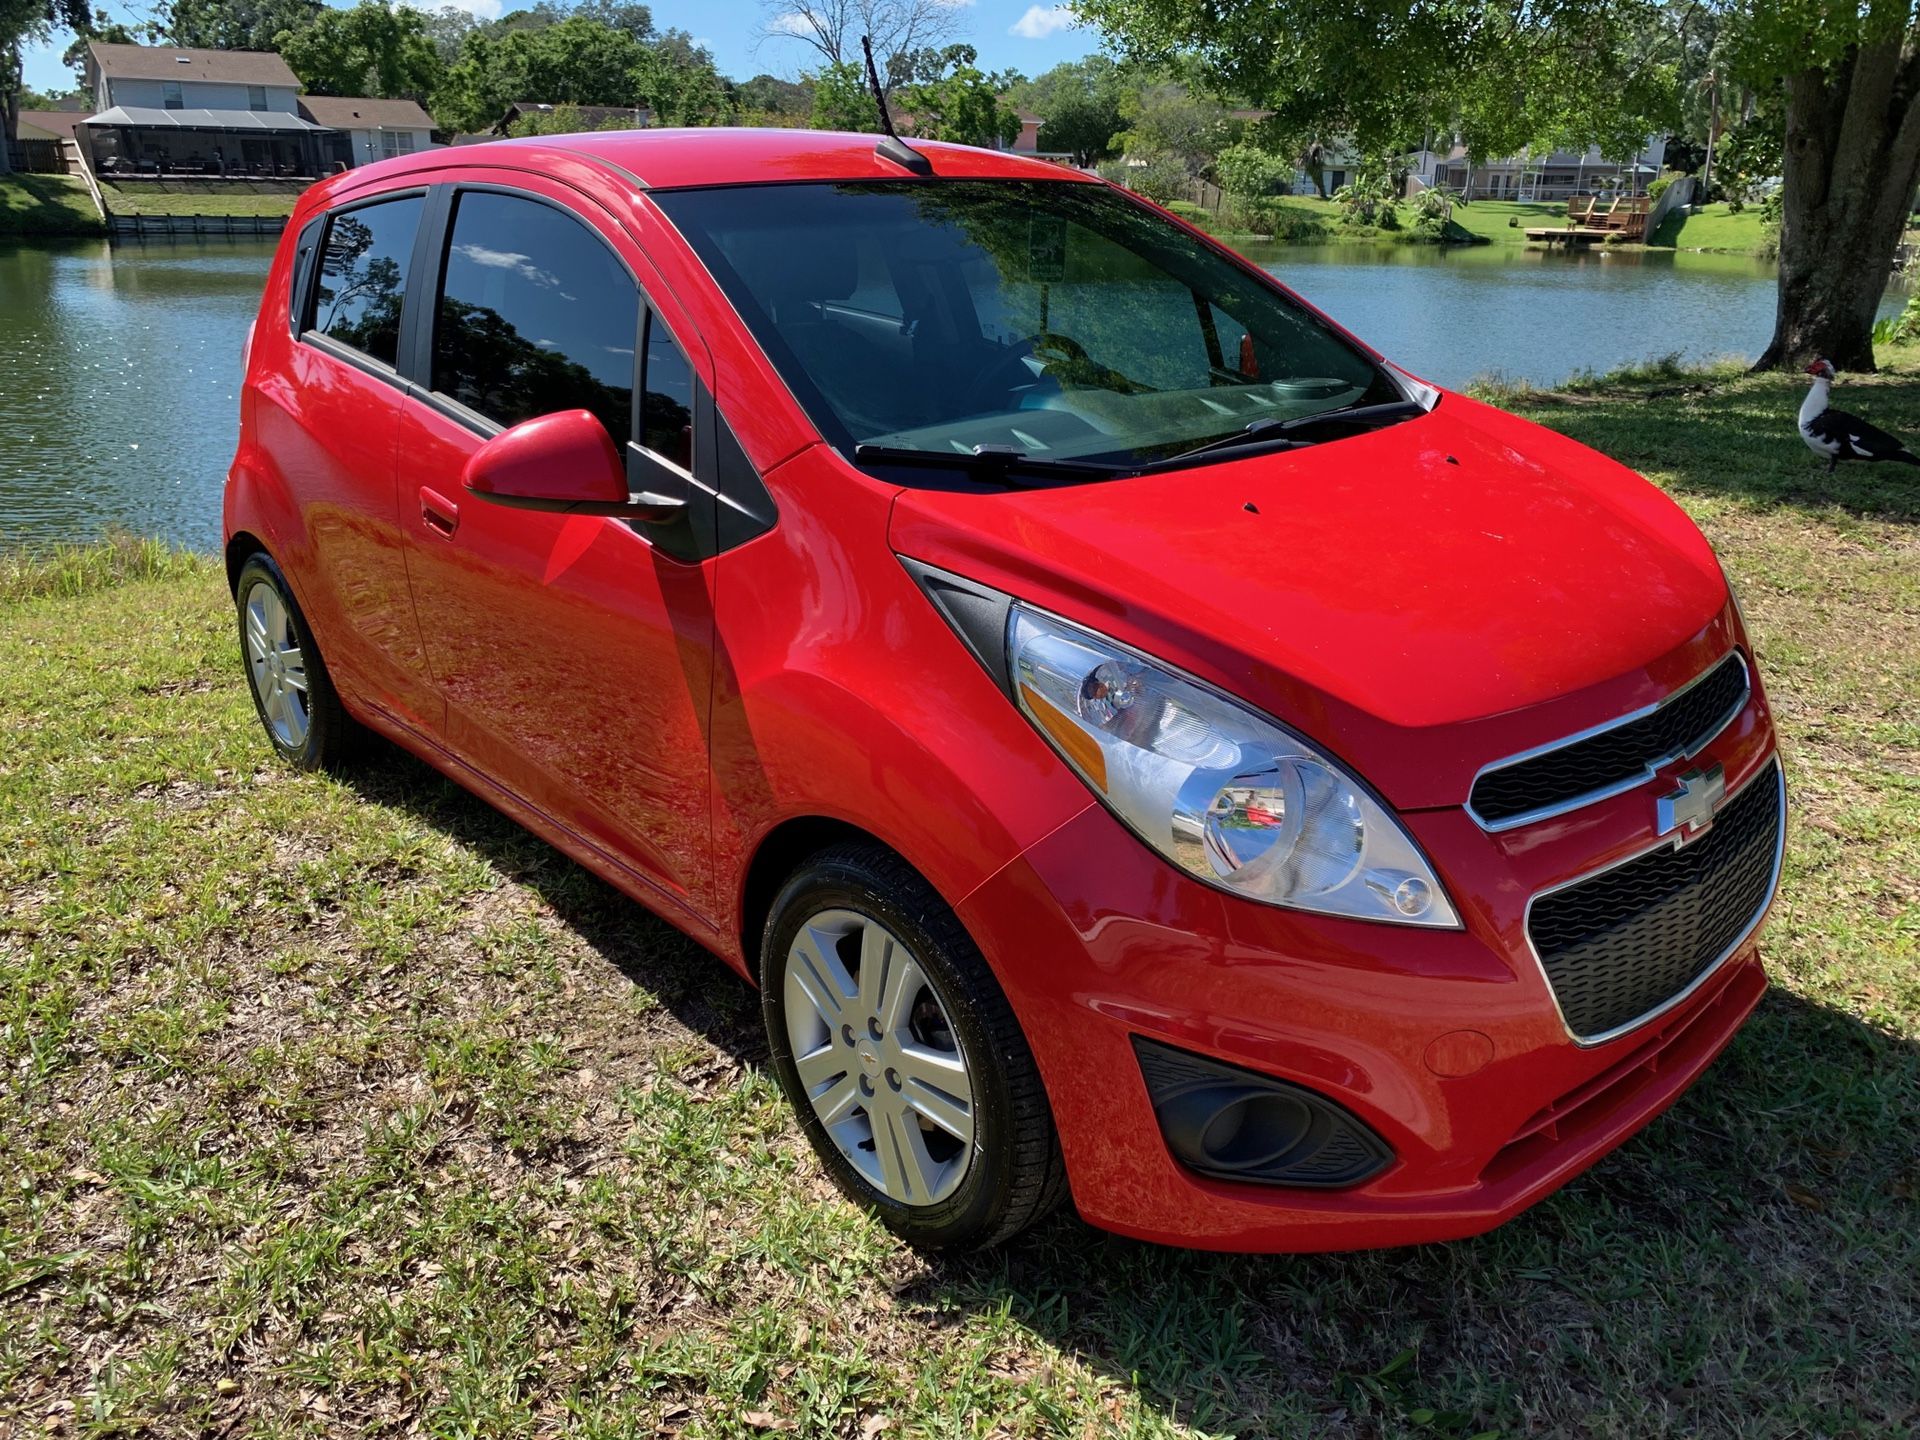
[(1780, 301), (1757, 371), (1874, 369), (1874, 311), (1920, 182), (1920, 54), (1862, 46), (1788, 79)]

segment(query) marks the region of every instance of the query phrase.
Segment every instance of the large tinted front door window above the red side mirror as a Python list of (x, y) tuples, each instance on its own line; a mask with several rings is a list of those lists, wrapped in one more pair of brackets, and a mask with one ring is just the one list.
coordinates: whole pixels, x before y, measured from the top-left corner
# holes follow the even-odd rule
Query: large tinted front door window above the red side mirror
[(434, 390), (501, 424), (588, 409), (634, 430), (639, 292), (597, 234), (534, 200), (459, 196), (434, 324)]

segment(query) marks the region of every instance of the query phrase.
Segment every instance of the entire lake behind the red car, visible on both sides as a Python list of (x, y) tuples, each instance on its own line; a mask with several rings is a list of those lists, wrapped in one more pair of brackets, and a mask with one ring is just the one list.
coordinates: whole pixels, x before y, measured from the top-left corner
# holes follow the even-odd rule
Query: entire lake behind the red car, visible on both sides
[[(1450, 386), (1480, 374), (1553, 384), (1668, 351), (1751, 357), (1772, 330), (1772, 267), (1745, 257), (1509, 246), (1246, 253)], [(271, 240), (0, 242), (0, 545), (86, 540), (108, 526), (219, 543), (240, 346), (271, 257)]]

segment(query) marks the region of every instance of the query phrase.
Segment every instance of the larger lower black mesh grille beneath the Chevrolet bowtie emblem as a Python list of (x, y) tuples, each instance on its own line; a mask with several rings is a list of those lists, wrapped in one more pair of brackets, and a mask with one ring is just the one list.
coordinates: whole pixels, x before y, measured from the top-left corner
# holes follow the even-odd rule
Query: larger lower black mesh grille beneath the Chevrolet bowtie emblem
[(1778, 770), (1768, 770), (1697, 841), (1536, 897), (1526, 935), (1567, 1029), (1603, 1037), (1713, 970), (1766, 906), (1784, 824)]

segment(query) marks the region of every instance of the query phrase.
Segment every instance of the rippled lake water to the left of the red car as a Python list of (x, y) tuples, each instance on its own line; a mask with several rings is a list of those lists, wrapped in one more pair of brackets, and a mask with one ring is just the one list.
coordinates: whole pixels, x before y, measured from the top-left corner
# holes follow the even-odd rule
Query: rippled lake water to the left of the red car
[(219, 543), (273, 246), (0, 242), (0, 545)]

